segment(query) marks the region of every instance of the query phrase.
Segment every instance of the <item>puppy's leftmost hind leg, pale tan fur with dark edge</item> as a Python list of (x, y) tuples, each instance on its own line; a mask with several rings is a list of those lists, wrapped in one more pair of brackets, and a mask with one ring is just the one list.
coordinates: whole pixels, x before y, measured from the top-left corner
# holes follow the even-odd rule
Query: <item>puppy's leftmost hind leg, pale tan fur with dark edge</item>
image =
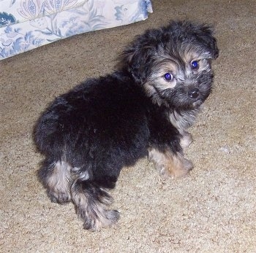
[(55, 203), (66, 203), (71, 200), (70, 184), (72, 167), (64, 160), (45, 160), (38, 176), (48, 191), (48, 196)]

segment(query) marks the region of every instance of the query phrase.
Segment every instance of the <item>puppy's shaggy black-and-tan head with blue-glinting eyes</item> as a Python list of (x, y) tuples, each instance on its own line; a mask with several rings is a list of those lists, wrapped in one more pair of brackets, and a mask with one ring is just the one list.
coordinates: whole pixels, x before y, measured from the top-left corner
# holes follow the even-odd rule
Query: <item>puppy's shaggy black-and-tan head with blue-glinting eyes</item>
[(211, 93), (211, 59), (218, 54), (210, 26), (171, 22), (138, 36), (124, 50), (122, 65), (154, 103), (192, 109)]

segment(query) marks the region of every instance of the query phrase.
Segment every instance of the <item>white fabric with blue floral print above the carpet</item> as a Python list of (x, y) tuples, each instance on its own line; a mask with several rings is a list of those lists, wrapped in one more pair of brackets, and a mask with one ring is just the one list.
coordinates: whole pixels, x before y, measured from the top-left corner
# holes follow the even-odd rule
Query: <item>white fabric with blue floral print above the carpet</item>
[(0, 60), (152, 12), (150, 0), (0, 0), (0, 7)]

